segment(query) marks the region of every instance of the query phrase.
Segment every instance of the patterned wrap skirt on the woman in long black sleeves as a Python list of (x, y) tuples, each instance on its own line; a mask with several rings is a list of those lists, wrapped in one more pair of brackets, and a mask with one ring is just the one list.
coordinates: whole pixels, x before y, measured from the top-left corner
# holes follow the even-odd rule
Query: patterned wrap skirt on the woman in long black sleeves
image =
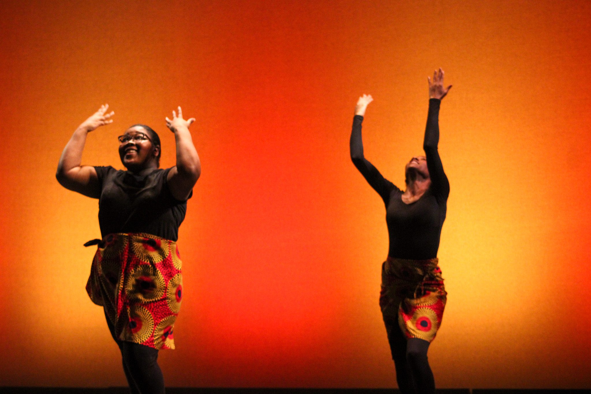
[(438, 262), (388, 256), (382, 264), (379, 306), (388, 334), (398, 321), (405, 337), (433, 341), (447, 300)]

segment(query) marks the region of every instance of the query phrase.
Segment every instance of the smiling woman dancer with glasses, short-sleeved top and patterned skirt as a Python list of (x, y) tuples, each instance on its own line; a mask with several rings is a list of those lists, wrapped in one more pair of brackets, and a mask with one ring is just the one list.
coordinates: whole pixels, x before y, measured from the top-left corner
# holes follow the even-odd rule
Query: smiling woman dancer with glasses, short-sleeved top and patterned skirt
[(183, 295), (176, 245), (187, 200), (201, 165), (180, 107), (165, 118), (176, 139), (176, 165), (160, 167), (158, 134), (133, 125), (119, 139), (126, 168), (81, 165), (86, 136), (113, 122), (103, 105), (74, 131), (61, 154), (57, 180), (63, 187), (99, 199), (101, 239), (86, 291), (103, 307), (109, 330), (121, 350), (123, 369), (134, 394), (164, 393), (158, 350), (174, 349), (174, 322)]

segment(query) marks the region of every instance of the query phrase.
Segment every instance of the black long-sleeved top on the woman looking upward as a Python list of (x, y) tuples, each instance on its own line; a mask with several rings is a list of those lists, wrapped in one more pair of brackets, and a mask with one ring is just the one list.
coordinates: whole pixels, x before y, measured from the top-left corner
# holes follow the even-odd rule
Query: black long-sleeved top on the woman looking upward
[(446, 217), (449, 181), (437, 151), (439, 142), (439, 105), (429, 100), (429, 112), (423, 149), (431, 178), (428, 190), (414, 203), (402, 201), (403, 191), (379, 173), (365, 157), (361, 138), (363, 116), (355, 115), (350, 139), (351, 159), (386, 206), (386, 223), (390, 246), (388, 255), (401, 259), (433, 259), (437, 257), (441, 227)]

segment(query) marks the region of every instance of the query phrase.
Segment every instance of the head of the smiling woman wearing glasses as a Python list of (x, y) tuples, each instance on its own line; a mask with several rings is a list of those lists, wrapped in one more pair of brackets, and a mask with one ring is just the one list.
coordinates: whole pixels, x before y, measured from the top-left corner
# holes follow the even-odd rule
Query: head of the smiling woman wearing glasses
[(152, 162), (160, 167), (160, 137), (146, 125), (133, 125), (119, 136), (119, 157), (130, 171), (141, 171)]

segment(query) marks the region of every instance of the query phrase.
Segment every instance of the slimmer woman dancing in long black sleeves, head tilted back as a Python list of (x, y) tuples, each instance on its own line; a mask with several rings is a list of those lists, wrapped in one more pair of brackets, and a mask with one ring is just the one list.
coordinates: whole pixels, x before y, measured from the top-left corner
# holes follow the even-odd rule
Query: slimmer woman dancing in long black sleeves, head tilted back
[(427, 360), (429, 344), (443, 317), (447, 292), (437, 259), (446, 217), (449, 182), (437, 151), (439, 106), (452, 87), (443, 85), (443, 70), (427, 78), (429, 110), (423, 149), (405, 166), (402, 191), (363, 156), (361, 123), (372, 97), (359, 97), (350, 138), (351, 159), (386, 206), (388, 258), (382, 264), (379, 305), (388, 334), (398, 388), (402, 393), (434, 393)]

